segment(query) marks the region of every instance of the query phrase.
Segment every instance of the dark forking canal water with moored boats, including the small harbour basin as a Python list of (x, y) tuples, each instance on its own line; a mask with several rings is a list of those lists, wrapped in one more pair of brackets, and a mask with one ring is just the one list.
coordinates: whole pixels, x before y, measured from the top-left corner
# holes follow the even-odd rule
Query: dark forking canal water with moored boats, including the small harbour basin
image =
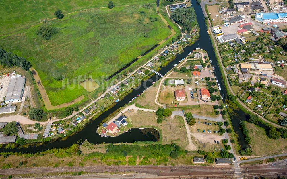
[[(178, 54), (172, 62), (170, 62), (167, 66), (161, 67), (159, 73), (162, 75), (165, 75), (168, 71), (170, 71), (175, 63), (179, 63), (179, 61), (182, 58), (185, 58), (188, 56), (189, 52), (192, 52), (195, 48), (197, 48), (197, 45), (206, 50), (208, 53), (208, 56), (210, 59), (212, 59), (212, 66), (215, 68), (214, 74), (218, 78), (218, 82), (221, 84), (221, 90), (220, 94), (224, 95), (226, 97), (226, 88), (223, 85), (220, 69), (218, 67), (218, 63), (216, 61), (216, 57), (214, 54), (214, 50), (212, 47), (212, 43), (210, 41), (210, 37), (208, 35), (208, 32), (206, 31), (206, 25), (204, 22), (204, 15), (203, 11), (201, 9), (201, 6), (196, 3), (196, 0), (191, 0), (192, 6), (195, 9), (195, 13), (197, 15), (197, 21), (199, 24), (200, 32), (199, 32), (199, 39), (197, 42), (195, 42), (191, 46), (187, 46), (184, 48), (184, 51), (181, 54)], [(133, 97), (137, 96), (139, 93), (143, 93), (143, 91), (150, 87), (152, 85), (153, 81), (156, 81), (160, 79), (158, 75), (154, 75), (150, 77), (149, 79), (142, 81), (141, 85), (133, 90), (131, 93), (129, 93), (127, 96), (125, 96), (123, 99), (121, 99), (116, 105), (111, 107), (108, 111), (102, 113), (97, 119), (94, 119), (90, 123), (88, 123), (84, 129), (79, 131), (78, 133), (68, 137), (65, 140), (61, 139), (56, 139), (52, 140), (49, 142), (45, 142), (42, 145), (39, 144), (31, 144), (27, 148), (17, 148), (15, 147), (14, 149), (5, 149), (5, 145), (2, 145), (0, 148), (1, 152), (23, 152), (23, 153), (35, 153), (38, 151), (42, 150), (48, 150), (51, 148), (61, 148), (61, 147), (69, 147), (74, 143), (81, 143), (85, 139), (87, 139), (91, 143), (133, 143), (135, 141), (158, 141), (159, 139), (159, 133), (155, 129), (145, 129), (145, 130), (140, 130), (140, 129), (131, 129), (127, 133), (123, 133), (117, 137), (101, 137), (96, 133), (97, 127), (99, 123), (101, 123), (102, 120), (104, 120), (108, 115), (113, 113), (113, 111), (116, 111), (120, 107), (125, 106), (130, 99)], [(204, 114), (198, 114), (198, 115), (204, 115)], [(239, 109), (234, 109), (232, 111), (232, 115), (230, 115), (230, 118), (232, 120), (232, 125), (234, 127), (234, 131), (238, 135), (238, 142), (239, 145), (241, 145), (241, 148), (246, 148), (248, 147), (247, 143), (244, 141), (242, 131), (239, 129), (239, 121), (240, 120), (246, 120), (247, 116), (246, 114), (239, 110)]]

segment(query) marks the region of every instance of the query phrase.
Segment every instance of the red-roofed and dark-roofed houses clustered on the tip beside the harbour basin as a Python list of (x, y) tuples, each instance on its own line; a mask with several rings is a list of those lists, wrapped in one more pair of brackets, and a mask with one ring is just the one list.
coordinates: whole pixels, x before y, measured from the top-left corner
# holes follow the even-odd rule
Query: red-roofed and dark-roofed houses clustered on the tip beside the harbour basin
[(103, 123), (102, 127), (104, 127), (106, 130), (102, 130), (102, 135), (106, 135), (107, 132), (111, 134), (119, 132), (121, 126), (126, 126), (128, 124), (126, 119), (127, 116), (121, 115), (115, 121), (109, 124)]

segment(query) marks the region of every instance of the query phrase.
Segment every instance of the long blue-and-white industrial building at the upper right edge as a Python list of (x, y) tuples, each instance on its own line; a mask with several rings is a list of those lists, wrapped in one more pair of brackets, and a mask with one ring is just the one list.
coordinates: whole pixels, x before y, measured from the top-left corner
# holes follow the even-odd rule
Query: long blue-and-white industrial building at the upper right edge
[(260, 23), (285, 23), (287, 22), (287, 13), (256, 13), (255, 21)]

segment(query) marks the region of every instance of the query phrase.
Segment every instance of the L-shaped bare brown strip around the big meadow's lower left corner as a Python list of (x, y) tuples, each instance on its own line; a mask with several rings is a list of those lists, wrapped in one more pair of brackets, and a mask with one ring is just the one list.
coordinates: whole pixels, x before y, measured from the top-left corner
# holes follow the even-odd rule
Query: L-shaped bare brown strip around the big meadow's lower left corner
[(48, 97), (48, 95), (46, 93), (46, 90), (45, 90), (45, 88), (44, 88), (44, 86), (43, 86), (43, 84), (41, 82), (41, 79), (40, 79), (40, 77), (38, 75), (38, 72), (34, 68), (30, 68), (30, 71), (32, 71), (32, 73), (33, 73), (33, 76), (34, 76), (34, 78), (36, 80), (36, 84), (37, 84), (37, 86), (39, 88), (39, 91), (40, 91), (40, 93), (42, 95), (42, 99), (44, 101), (45, 108), (48, 109), (48, 110), (54, 110), (54, 109), (67, 107), (67, 106), (73, 105), (73, 104), (75, 104), (75, 103), (77, 103), (77, 102), (79, 102), (79, 101), (81, 101), (81, 100), (83, 100), (85, 98), (82, 95), (82, 96), (79, 96), (76, 99), (74, 99), (73, 101), (70, 101), (68, 103), (63, 103), (63, 104), (60, 104), (60, 105), (57, 105), (57, 106), (52, 106), (51, 101), (50, 101), (50, 99), (49, 99), (49, 97)]

